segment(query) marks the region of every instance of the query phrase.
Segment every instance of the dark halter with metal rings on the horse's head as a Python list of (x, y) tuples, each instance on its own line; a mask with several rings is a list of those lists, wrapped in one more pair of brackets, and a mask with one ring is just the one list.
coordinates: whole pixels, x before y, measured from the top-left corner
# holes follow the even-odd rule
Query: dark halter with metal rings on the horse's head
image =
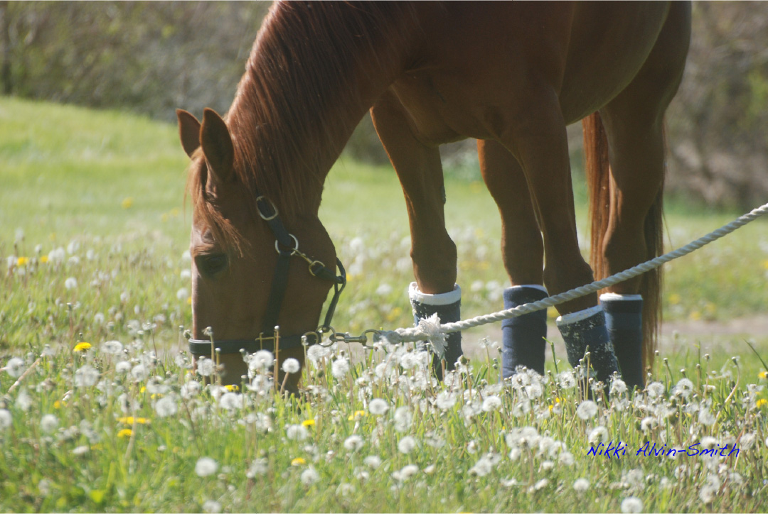
[[(299, 240), (288, 232), (280, 219), (277, 208), (266, 196), (259, 196), (256, 199), (256, 208), (261, 219), (272, 230), (275, 236), (275, 249), (277, 251), (277, 265), (275, 266), (275, 275), (272, 278), (270, 288), (270, 298), (266, 302), (266, 314), (262, 330), (256, 338), (252, 339), (223, 339), (214, 338), (213, 342), (204, 339), (189, 339), (190, 352), (193, 354), (210, 354), (214, 346), (222, 354), (237, 354), (240, 351), (253, 353), (259, 350), (275, 351), (275, 341), (277, 341), (278, 350), (300, 348), (303, 339), (306, 338), (306, 344), (317, 344), (322, 338), (323, 332), (330, 331), (333, 313), (336, 311), (336, 304), (339, 303), (339, 295), (346, 287), (346, 272), (339, 259), (336, 259), (336, 266), (339, 268), (339, 275), (326, 268), (323, 262), (314, 261), (299, 251)], [(288, 268), (290, 258), (296, 255), (304, 259), (310, 268), (310, 274), (317, 278), (322, 278), (328, 282), (333, 282), (333, 298), (328, 305), (326, 318), (323, 325), (316, 330), (306, 332), (306, 334), (280, 335), (277, 334), (275, 326), (277, 318), (280, 315), (280, 308), (283, 305), (286, 286), (288, 285)]]

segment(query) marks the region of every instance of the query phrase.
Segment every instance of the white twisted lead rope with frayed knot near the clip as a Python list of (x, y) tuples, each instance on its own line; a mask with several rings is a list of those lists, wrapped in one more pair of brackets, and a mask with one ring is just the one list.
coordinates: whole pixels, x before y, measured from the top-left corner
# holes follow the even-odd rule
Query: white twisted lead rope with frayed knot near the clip
[(651, 269), (656, 269), (666, 262), (678, 259), (684, 255), (688, 255), (690, 252), (694, 252), (700, 249), (704, 245), (708, 245), (723, 236), (727, 236), (736, 229), (740, 229), (747, 223), (754, 221), (755, 219), (768, 213), (768, 203), (763, 206), (753, 209), (750, 213), (740, 216), (734, 219), (732, 222), (720, 227), (720, 229), (710, 232), (706, 236), (700, 237), (694, 242), (690, 242), (687, 245), (673, 250), (672, 252), (660, 255), (655, 259), (638, 264), (633, 268), (626, 269), (623, 272), (618, 272), (615, 275), (611, 275), (602, 280), (592, 282), (588, 285), (582, 285), (581, 287), (571, 289), (560, 293), (559, 295), (549, 296), (539, 301), (532, 301), (525, 305), (519, 305), (515, 308), (510, 308), (505, 311), (498, 311), (492, 314), (478, 316), (476, 318), (466, 319), (464, 321), (456, 321), (454, 323), (440, 323), (439, 318), (436, 315), (432, 318), (426, 318), (419, 321), (419, 325), (411, 328), (397, 328), (392, 331), (379, 331), (379, 338), (386, 339), (391, 344), (408, 343), (415, 341), (429, 341), (432, 343), (435, 352), (442, 355), (442, 350), (445, 348), (445, 334), (451, 332), (466, 330), (468, 328), (478, 327), (480, 325), (487, 325), (488, 323), (495, 323), (496, 321), (502, 321), (509, 318), (517, 318), (518, 316), (528, 314), (530, 312), (541, 311), (541, 309), (554, 307), (554, 305), (560, 305), (566, 301), (575, 300), (582, 296), (589, 295), (594, 292), (598, 292), (603, 288), (616, 285), (620, 282), (629, 280), (630, 278), (642, 275), (645, 272), (649, 272)]

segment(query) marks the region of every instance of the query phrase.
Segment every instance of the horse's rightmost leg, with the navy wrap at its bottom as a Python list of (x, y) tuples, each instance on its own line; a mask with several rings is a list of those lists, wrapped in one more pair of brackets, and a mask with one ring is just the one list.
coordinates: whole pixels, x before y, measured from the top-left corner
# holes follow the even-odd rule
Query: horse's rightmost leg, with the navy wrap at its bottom
[[(686, 5), (673, 5), (637, 77), (600, 114), (611, 173), (608, 216), (598, 233), (599, 275), (613, 275), (662, 252), (664, 112), (683, 74), (690, 26)], [(660, 318), (660, 269), (608, 288), (601, 303), (624, 381), (643, 387)]]

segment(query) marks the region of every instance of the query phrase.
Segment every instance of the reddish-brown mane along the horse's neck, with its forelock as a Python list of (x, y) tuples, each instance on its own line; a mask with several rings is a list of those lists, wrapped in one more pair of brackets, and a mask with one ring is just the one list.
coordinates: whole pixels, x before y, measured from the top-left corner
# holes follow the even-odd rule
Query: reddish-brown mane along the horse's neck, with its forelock
[[(350, 122), (351, 110), (362, 117), (374, 100), (362, 98), (355, 71), (396, 64), (414, 28), (409, 2), (273, 4), (224, 117), (237, 179), (254, 200), (267, 196), (286, 219), (316, 212), (323, 163), (336, 160), (359, 122)], [(226, 220), (202, 205), (206, 177), (198, 169), (191, 166), (189, 178), (195, 207), (231, 239)]]

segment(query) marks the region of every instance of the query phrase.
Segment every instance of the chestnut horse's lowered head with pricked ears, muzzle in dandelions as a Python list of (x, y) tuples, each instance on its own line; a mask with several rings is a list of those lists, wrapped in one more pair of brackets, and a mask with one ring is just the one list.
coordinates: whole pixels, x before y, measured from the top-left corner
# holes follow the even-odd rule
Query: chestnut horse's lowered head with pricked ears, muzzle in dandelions
[[(343, 282), (333, 273), (333, 243), (313, 209), (283, 219), (258, 193), (249, 180), (258, 163), (244, 162), (237, 137), (214, 110), (204, 111), (202, 123), (184, 110), (177, 117), (194, 209), (190, 350), (199, 359), (220, 348), (214, 358), (225, 384), (240, 384), (247, 373), (243, 349), (273, 351), (278, 365), (289, 357), (303, 365), (301, 337), (319, 342), (323, 302), (334, 282), (336, 291)], [(299, 378), (291, 374), (287, 389), (296, 390)]]

